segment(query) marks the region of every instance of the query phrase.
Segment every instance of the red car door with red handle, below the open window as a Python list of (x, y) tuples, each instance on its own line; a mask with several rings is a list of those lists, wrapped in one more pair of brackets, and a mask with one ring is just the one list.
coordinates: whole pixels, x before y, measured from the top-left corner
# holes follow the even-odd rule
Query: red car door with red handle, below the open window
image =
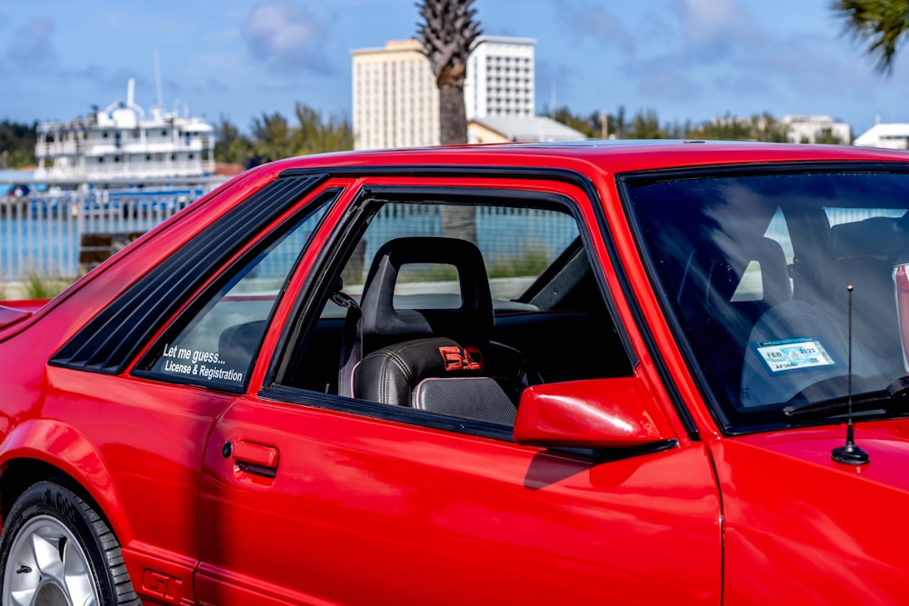
[[(591, 216), (569, 186), (533, 185), (546, 187), (558, 199), (547, 193), (541, 207), (570, 200), (581, 207), (574, 216)], [(413, 224), (422, 213), (394, 216)], [(513, 232), (530, 229), (516, 220)], [(376, 233), (366, 232), (367, 250)], [(604, 250), (598, 237), (586, 245)], [(270, 331), (266, 350), (282, 327)], [(721, 512), (703, 442), (546, 450), (514, 443), (508, 426), (320, 384), (327, 393), (278, 386), (247, 395), (217, 422), (200, 490), (200, 602), (720, 602)]]

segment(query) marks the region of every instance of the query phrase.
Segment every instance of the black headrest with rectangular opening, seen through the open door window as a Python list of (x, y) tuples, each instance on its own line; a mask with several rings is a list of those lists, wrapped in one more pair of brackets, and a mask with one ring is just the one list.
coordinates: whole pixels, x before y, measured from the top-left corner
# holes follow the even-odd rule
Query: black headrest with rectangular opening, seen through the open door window
[[(461, 306), (457, 309), (395, 309), (395, 283), (412, 263), (453, 265)], [(483, 255), (474, 243), (453, 238), (407, 237), (390, 240), (375, 253), (360, 301), (364, 348), (425, 336), (486, 341), (493, 330), (493, 300)], [(389, 337), (389, 338), (386, 338)]]

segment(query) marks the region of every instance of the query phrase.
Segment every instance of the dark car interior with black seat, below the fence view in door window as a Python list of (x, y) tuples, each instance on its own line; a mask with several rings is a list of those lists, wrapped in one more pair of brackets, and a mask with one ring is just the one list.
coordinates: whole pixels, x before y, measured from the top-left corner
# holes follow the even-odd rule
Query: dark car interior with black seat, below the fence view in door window
[[(632, 373), (579, 235), (510, 279), (510, 298), (494, 296), (503, 280), (466, 240), (393, 237), (367, 256), (362, 284), (345, 286), (350, 261), (338, 276), (283, 385), (511, 424), (529, 384)], [(408, 282), (410, 267), (443, 279)]]

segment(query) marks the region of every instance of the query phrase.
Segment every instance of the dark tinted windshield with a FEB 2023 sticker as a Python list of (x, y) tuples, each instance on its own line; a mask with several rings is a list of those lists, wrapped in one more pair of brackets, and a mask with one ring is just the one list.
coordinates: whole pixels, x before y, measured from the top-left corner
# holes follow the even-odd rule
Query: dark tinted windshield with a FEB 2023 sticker
[(654, 284), (727, 429), (787, 423), (787, 405), (847, 394), (850, 301), (853, 392), (909, 370), (898, 313), (909, 311), (909, 174), (847, 168), (620, 179)]

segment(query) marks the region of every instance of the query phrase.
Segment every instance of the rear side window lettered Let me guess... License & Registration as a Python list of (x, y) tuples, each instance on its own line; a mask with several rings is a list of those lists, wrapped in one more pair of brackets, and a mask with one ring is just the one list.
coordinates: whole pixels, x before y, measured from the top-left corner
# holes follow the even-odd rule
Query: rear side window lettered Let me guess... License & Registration
[(138, 365), (143, 376), (236, 390), (246, 381), (278, 296), (337, 192), (265, 238), (199, 298)]

